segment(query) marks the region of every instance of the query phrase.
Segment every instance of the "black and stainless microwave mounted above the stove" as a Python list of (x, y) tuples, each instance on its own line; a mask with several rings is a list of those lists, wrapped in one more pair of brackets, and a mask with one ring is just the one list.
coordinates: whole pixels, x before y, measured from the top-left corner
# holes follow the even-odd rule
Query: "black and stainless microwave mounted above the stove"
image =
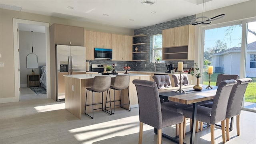
[(111, 60), (112, 49), (94, 48), (94, 59)]

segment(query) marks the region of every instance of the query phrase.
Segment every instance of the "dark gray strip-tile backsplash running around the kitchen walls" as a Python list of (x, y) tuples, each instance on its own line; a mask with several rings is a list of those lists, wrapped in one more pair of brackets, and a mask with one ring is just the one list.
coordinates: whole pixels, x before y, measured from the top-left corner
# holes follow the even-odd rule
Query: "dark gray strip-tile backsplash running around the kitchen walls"
[[(140, 45), (138, 47), (138, 51), (145, 51), (147, 53), (138, 53), (133, 54), (134, 60), (146, 60), (146, 62), (132, 62), (132, 61), (114, 61), (114, 60), (90, 60), (91, 64), (117, 64), (116, 71), (123, 71), (122, 68), (127, 64), (127, 66), (131, 67), (131, 71), (150, 71), (154, 72), (154, 66), (153, 63), (150, 63), (150, 36), (153, 36), (155, 34), (162, 34), (162, 30), (168, 29), (168, 28), (174, 28), (177, 26), (184, 26), (190, 24), (190, 22), (196, 18), (196, 15), (187, 16), (184, 18), (180, 18), (177, 20), (171, 20), (168, 22), (163, 22), (160, 24), (155, 24), (153, 26), (147, 26), (144, 28), (136, 29), (134, 30), (134, 35), (137, 34), (146, 34), (148, 36), (140, 37), (140, 38), (133, 38), (133, 43), (146, 43), (146, 45)], [(134, 48), (136, 46), (133, 46), (133, 52), (135, 52)], [(89, 60), (86, 60), (88, 62)], [(187, 64), (188, 68), (194, 67), (194, 60), (178, 60), (179, 62), (182, 61), (184, 64)], [(171, 60), (166, 61), (165, 64), (158, 63), (156, 64), (156, 71), (157, 72), (165, 72), (166, 71), (166, 64), (174, 64), (175, 67), (178, 66), (178, 61)], [(137, 66), (136, 66), (137, 64)], [(146, 67), (145, 67), (146, 64)], [(91, 70), (91, 69), (90, 69)]]

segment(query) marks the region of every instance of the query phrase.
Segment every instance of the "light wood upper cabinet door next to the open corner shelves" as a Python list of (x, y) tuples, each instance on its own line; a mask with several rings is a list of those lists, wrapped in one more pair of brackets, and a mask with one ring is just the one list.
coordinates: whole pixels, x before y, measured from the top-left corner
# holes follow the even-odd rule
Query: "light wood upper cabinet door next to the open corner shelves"
[(132, 61), (132, 36), (122, 36), (122, 60)]

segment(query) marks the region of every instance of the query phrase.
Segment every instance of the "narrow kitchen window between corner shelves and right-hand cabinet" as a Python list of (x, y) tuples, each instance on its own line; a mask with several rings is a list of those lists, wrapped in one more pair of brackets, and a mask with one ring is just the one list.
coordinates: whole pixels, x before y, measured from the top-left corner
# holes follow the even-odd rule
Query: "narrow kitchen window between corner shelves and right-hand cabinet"
[(162, 60), (162, 34), (152, 36), (152, 56), (151, 62), (164, 62)]

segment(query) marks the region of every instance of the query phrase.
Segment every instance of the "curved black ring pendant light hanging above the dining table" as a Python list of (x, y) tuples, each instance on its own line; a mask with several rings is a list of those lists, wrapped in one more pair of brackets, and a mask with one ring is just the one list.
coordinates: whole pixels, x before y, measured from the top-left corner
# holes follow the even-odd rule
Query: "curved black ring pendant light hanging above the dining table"
[[(203, 0), (203, 12), (202, 12), (202, 16), (199, 16), (197, 18), (195, 18), (194, 20), (192, 20), (190, 22), (191, 25), (198, 25), (198, 24), (210, 24), (212, 23), (213, 20), (218, 20), (220, 18), (223, 18), (225, 16), (225, 14), (220, 14), (218, 16), (214, 16), (212, 18), (208, 18), (207, 16), (205, 16), (205, 5), (206, 5), (206, 1)], [(210, 11), (211, 15), (212, 15), (212, 1), (211, 1), (211, 11)], [(202, 20), (198, 20), (202, 18)]]

